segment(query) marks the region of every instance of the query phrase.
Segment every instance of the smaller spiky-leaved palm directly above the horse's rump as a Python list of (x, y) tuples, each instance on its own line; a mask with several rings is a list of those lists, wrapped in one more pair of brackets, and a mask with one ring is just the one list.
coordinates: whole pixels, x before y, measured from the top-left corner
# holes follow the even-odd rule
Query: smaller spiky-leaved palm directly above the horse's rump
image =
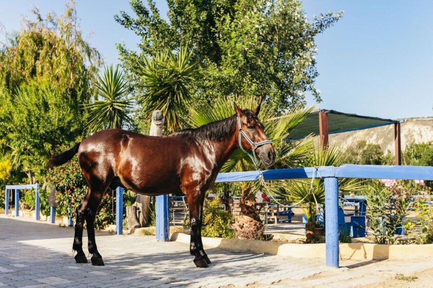
[(122, 71), (113, 65), (104, 69), (103, 75), (98, 75), (95, 83), (98, 89), (98, 98), (92, 103), (86, 104), (89, 110), (89, 120), (86, 127), (90, 134), (106, 128), (123, 128), (132, 120), (128, 116), (131, 108), (131, 100), (126, 98), (128, 90)]

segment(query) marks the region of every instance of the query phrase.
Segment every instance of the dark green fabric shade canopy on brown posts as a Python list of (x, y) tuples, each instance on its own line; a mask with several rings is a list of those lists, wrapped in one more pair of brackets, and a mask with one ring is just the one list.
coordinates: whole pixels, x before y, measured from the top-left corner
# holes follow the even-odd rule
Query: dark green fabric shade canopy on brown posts
[(297, 125), (289, 134), (289, 140), (301, 139), (310, 134), (319, 135), (319, 113), (325, 113), (328, 118), (328, 134), (349, 132), (400, 123), (400, 120), (383, 119), (378, 117), (360, 116), (342, 113), (335, 110), (318, 109)]

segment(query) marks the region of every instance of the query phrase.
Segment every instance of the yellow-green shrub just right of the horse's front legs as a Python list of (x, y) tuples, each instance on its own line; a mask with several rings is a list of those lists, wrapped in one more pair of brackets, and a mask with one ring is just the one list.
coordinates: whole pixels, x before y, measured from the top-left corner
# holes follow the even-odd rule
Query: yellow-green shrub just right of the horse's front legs
[(202, 235), (204, 237), (233, 238), (233, 215), (223, 210), (219, 198), (206, 201), (203, 215)]

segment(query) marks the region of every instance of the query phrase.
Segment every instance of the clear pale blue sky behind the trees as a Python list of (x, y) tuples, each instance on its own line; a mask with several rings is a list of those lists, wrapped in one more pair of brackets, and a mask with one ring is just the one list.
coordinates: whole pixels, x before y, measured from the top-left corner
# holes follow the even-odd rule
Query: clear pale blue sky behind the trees
[[(107, 63), (118, 63), (115, 43), (135, 49), (139, 41), (113, 19), (121, 9), (131, 11), (128, 2), (77, 0), (82, 31)], [(165, 1), (156, 3), (165, 15)], [(59, 0), (4, 0), (2, 34), (18, 30), (34, 6), (42, 14), (64, 10)], [(316, 38), (316, 86), (323, 98), (318, 108), (384, 118), (433, 116), (433, 1), (309, 0), (303, 6), (308, 18), (345, 11)], [(308, 104), (315, 104), (310, 97)]]

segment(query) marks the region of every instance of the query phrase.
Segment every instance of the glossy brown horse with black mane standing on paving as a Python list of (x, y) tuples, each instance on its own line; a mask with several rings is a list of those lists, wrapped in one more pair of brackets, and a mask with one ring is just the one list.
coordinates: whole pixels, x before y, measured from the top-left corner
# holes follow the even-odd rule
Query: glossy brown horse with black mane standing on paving
[(82, 248), (86, 220), (92, 265), (104, 265), (95, 243), (95, 213), (107, 188), (121, 186), (143, 195), (186, 195), (191, 232), (189, 251), (197, 267), (208, 267), (211, 262), (201, 239), (206, 190), (214, 185), (216, 175), (237, 148), (252, 151), (253, 162), (256, 162), (256, 154), (266, 166), (275, 162), (274, 148), (257, 118), (260, 104), (253, 111), (234, 106), (236, 114), (230, 118), (167, 137), (145, 136), (121, 129), (102, 130), (54, 156), (51, 167), (68, 162), (78, 152), (89, 186), (77, 208), (73, 244), (77, 263), (87, 263)]

